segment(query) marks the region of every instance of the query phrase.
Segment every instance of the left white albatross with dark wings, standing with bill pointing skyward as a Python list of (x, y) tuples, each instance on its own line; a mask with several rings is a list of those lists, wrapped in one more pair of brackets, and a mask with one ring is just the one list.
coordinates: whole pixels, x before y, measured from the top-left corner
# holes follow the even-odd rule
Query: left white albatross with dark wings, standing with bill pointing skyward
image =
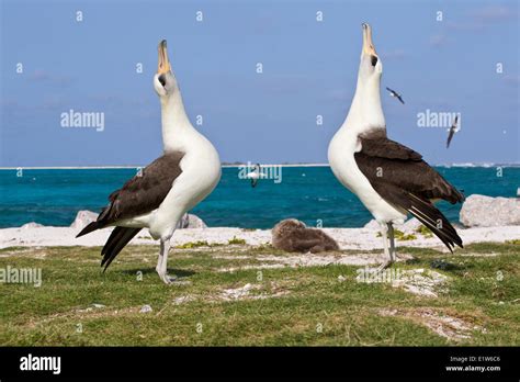
[[(109, 204), (95, 222), (79, 234), (115, 227), (103, 249), (104, 270), (140, 229), (160, 240), (156, 271), (165, 283), (170, 238), (184, 213), (206, 198), (221, 179), (218, 153), (191, 124), (168, 59), (167, 44), (159, 44), (154, 88), (161, 104), (162, 155), (109, 195)], [(124, 135), (115, 144), (121, 145)]]

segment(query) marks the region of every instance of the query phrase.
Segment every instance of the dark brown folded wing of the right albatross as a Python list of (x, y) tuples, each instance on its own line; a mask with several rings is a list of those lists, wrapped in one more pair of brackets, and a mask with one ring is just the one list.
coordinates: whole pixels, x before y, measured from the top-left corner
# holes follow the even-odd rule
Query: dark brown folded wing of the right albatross
[(420, 154), (384, 137), (360, 138), (361, 151), (354, 154), (361, 172), (388, 203), (406, 210), (430, 228), (452, 250), (462, 239), (442, 213), (432, 204), (445, 200), (452, 204), (464, 196)]

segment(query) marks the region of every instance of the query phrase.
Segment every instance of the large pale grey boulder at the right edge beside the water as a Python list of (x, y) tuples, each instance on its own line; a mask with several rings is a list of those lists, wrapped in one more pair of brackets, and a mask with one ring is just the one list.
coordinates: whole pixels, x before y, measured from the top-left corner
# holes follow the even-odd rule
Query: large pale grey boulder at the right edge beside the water
[(520, 200), (470, 195), (462, 204), (460, 221), (466, 227), (520, 225)]

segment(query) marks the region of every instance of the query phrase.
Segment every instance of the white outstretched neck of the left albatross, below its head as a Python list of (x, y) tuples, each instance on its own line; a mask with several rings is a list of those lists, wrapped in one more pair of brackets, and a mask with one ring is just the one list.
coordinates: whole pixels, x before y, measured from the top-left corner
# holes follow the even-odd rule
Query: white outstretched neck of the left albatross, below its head
[(160, 100), (162, 144), (165, 151), (184, 150), (193, 135), (199, 133), (191, 124), (180, 91)]

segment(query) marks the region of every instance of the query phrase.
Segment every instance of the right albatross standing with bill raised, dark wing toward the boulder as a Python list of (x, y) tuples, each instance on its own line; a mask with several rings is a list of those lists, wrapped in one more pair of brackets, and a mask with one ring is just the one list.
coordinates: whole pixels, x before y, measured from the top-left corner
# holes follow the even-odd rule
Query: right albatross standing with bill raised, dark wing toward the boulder
[[(381, 226), (383, 269), (395, 261), (393, 224), (414, 215), (452, 251), (462, 239), (436, 200), (454, 204), (463, 194), (430, 167), (422, 156), (386, 136), (381, 105), (381, 59), (372, 42), (372, 30), (363, 24), (363, 47), (358, 86), (350, 111), (329, 144), (328, 158), (338, 180), (358, 195)], [(389, 249), (388, 249), (389, 236)]]

